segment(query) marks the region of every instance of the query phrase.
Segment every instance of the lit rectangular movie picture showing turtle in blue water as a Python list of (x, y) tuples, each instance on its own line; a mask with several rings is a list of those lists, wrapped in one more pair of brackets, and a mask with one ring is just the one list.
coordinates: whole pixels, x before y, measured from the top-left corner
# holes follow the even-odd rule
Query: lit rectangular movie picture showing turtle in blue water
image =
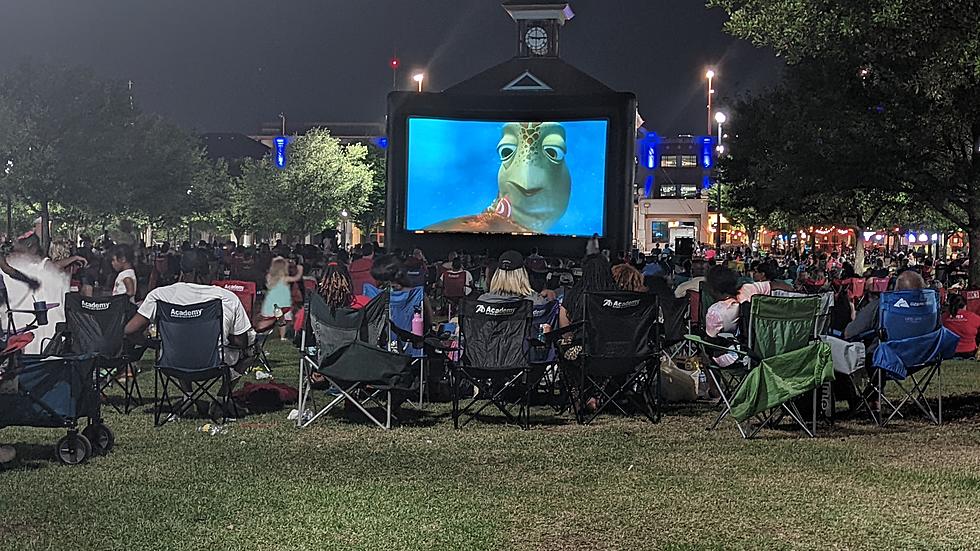
[(607, 127), (409, 117), (405, 229), (603, 235)]

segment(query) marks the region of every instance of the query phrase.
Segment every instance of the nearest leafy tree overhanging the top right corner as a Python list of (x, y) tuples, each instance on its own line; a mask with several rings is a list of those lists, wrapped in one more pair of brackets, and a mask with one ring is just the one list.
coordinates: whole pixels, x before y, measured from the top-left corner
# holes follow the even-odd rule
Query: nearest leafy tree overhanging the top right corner
[(970, 236), (980, 285), (980, 5), (975, 0), (709, 0), (735, 36), (792, 64), (841, 61), (891, 122), (881, 172)]

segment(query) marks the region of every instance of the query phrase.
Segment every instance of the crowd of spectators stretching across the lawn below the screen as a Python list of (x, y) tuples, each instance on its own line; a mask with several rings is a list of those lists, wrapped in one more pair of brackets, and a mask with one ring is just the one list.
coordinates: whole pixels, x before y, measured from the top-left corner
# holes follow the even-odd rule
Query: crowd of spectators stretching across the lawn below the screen
[[(595, 241), (595, 242), (593, 242)], [(360, 308), (378, 289), (418, 289), (423, 295), (420, 313), (432, 327), (450, 315), (452, 298), (478, 297), (482, 301), (527, 299), (535, 304), (560, 303), (559, 325), (567, 326), (581, 316), (582, 300), (593, 291), (625, 290), (656, 294), (664, 300), (683, 297), (706, 288), (716, 302), (707, 311), (704, 332), (708, 338), (734, 332), (739, 304), (752, 296), (774, 290), (836, 295), (830, 331), (845, 338), (861, 335), (877, 323), (880, 289), (868, 285), (860, 301), (848, 296), (848, 282), (857, 278), (891, 278), (891, 288), (959, 286), (955, 274), (963, 261), (937, 263), (928, 256), (878, 254), (871, 251), (867, 269), (857, 274), (850, 251), (766, 255), (750, 249), (732, 249), (706, 257), (681, 257), (669, 248), (648, 254), (638, 251), (612, 253), (590, 240), (581, 258), (542, 256), (538, 250), (506, 251), (487, 256), (455, 251), (447, 258), (430, 261), (423, 251), (386, 250), (378, 243), (341, 247), (335, 239), (319, 244), (286, 245), (282, 241), (243, 246), (232, 241), (159, 243), (150, 247), (132, 239), (116, 243), (105, 238), (97, 245), (82, 237), (77, 244), (56, 239), (46, 254), (37, 235), (29, 233), (13, 243), (0, 262), (9, 278), (8, 287), (23, 285), (36, 298), (38, 289), (54, 286), (47, 296), (77, 291), (86, 296), (127, 295), (132, 318), (127, 334), (138, 335), (154, 319), (160, 301), (187, 305), (220, 299), (224, 312), (224, 342), (235, 345), (225, 351), (226, 362), (236, 365), (242, 346), (255, 338), (254, 319), (239, 298), (212, 283), (216, 280), (253, 282), (262, 297), (256, 316), (285, 317), (293, 324), (280, 327), (288, 339), (300, 330), (303, 293), (313, 288), (333, 307)], [(7, 260), (10, 263), (8, 264)], [(48, 271), (51, 277), (41, 274)], [(5, 278), (5, 279), (6, 279)], [(372, 291), (372, 289), (374, 291)], [(454, 289), (452, 293), (450, 289)], [(13, 299), (13, 290), (8, 298)], [(43, 294), (43, 293), (42, 293)], [(980, 316), (966, 309), (963, 298), (950, 293), (944, 324), (961, 337), (957, 352), (977, 354)], [(11, 300), (11, 304), (15, 301)], [(51, 302), (58, 302), (52, 300)], [(54, 313), (52, 318), (59, 319)], [(60, 319), (63, 319), (63, 314)], [(574, 356), (574, 347), (566, 354)], [(734, 361), (721, 355), (721, 365)], [(241, 373), (241, 371), (239, 371)], [(223, 392), (230, 389), (223, 389)], [(7, 453), (6, 450), (4, 453)], [(2, 459), (2, 457), (0, 457)]]

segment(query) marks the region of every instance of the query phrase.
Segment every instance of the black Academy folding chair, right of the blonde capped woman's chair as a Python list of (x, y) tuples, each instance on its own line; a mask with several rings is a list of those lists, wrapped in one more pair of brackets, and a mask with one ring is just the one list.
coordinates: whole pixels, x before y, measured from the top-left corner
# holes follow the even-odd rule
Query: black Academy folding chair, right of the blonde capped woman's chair
[[(657, 297), (646, 293), (584, 295), (582, 352), (565, 366), (569, 384), (578, 383), (569, 391), (569, 405), (580, 424), (591, 423), (607, 408), (630, 415), (621, 399), (651, 421), (660, 421), (658, 310)], [(595, 407), (589, 414), (586, 407), (592, 400)]]

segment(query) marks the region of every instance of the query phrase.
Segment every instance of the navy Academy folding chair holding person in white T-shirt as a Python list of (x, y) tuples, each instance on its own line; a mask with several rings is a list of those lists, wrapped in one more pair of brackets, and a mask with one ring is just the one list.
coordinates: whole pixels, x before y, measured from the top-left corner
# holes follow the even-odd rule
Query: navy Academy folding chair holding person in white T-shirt
[[(179, 418), (204, 398), (209, 400), (209, 405), (220, 407), (220, 422), (238, 416), (231, 399), (232, 370), (224, 362), (222, 315), (220, 299), (188, 305), (157, 302), (160, 348), (153, 385), (156, 401), (153, 422), (157, 426)], [(213, 392), (215, 385), (219, 385), (218, 396)], [(181, 398), (176, 404), (171, 386), (179, 391)], [(169, 410), (166, 417), (164, 406)], [(217, 423), (219, 418), (212, 409), (208, 408), (208, 416)]]

